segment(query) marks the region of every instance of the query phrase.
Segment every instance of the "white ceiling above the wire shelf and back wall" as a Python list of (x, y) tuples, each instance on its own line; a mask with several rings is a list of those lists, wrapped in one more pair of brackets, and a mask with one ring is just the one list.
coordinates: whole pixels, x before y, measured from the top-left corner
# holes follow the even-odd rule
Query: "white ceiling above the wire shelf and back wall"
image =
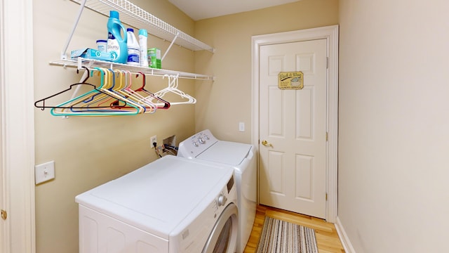
[(193, 20), (254, 11), (299, 0), (168, 0)]

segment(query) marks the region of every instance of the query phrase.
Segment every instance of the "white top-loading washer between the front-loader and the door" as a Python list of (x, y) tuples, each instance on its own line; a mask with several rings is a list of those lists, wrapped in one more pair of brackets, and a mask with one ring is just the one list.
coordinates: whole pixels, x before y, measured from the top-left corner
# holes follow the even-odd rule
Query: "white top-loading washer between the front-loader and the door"
[(243, 252), (251, 234), (257, 206), (257, 163), (254, 145), (220, 141), (206, 129), (182, 141), (177, 156), (232, 167), (237, 184), (239, 207), (238, 253)]

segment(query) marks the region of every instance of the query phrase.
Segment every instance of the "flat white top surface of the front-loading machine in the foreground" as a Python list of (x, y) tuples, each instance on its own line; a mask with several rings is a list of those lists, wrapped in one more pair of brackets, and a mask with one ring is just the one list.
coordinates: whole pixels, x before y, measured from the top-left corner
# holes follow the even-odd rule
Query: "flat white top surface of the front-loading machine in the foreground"
[(76, 202), (168, 240), (182, 220), (198, 215), (190, 214), (197, 206), (214, 200), (232, 173), (167, 155), (76, 196)]

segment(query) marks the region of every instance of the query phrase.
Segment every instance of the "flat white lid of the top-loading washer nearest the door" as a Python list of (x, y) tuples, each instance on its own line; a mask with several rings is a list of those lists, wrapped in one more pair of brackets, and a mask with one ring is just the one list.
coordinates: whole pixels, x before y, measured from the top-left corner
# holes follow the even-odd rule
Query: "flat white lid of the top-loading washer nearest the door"
[(231, 141), (217, 141), (196, 158), (237, 166), (243, 162), (252, 145)]

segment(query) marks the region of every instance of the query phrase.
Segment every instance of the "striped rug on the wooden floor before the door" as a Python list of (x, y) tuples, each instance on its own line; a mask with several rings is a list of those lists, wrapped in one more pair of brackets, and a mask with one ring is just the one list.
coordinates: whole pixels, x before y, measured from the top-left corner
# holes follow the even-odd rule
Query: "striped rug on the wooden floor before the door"
[(315, 230), (265, 217), (257, 253), (317, 253)]

